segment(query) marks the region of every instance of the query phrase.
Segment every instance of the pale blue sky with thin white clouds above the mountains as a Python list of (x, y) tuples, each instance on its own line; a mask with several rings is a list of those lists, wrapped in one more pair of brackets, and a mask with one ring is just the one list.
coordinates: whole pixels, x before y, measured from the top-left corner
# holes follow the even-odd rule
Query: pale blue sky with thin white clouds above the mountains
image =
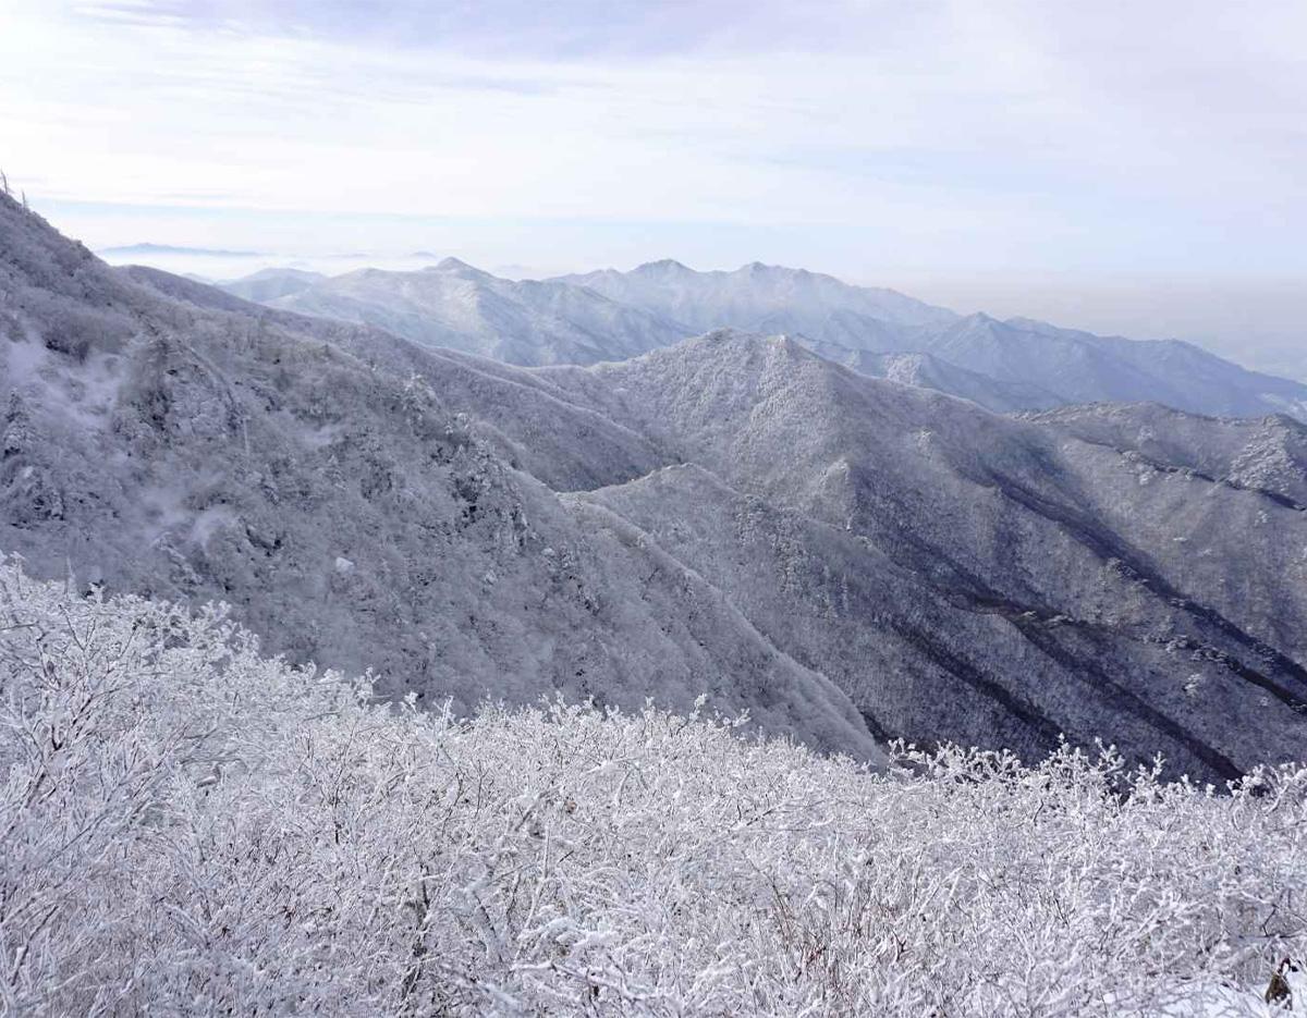
[(1307, 376), (1304, 42), (1302, 0), (3, 0), (0, 169), (97, 250), (257, 252), (203, 274), (762, 260)]

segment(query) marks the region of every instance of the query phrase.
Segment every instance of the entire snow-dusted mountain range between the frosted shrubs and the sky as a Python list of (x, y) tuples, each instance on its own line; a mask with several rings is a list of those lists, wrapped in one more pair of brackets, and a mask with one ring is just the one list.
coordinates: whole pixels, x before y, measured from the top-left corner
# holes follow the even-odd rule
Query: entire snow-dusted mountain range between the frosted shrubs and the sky
[[(761, 267), (630, 273), (678, 280), (672, 304), (444, 263), (268, 307), (111, 269), (8, 199), (0, 254), (0, 549), (39, 575), (220, 599), (273, 652), (457, 710), (707, 693), (869, 761), (898, 737), (1042, 754), (1065, 734), (1205, 780), (1300, 753), (1307, 427), (1067, 405), (1168, 363), (1238, 405), (1297, 399), (1193, 348), (857, 287), (827, 315), (843, 332), (813, 336), (818, 311), (766, 295), (843, 284)], [(298, 314), (333, 299), (358, 320)], [(710, 299), (744, 328), (676, 341)], [(750, 332), (750, 310), (806, 332)], [(877, 329), (931, 349), (889, 355)], [(1084, 355), (1043, 371), (1050, 399), (944, 357), (1040, 338)], [(545, 365), (505, 363), (536, 342)]]

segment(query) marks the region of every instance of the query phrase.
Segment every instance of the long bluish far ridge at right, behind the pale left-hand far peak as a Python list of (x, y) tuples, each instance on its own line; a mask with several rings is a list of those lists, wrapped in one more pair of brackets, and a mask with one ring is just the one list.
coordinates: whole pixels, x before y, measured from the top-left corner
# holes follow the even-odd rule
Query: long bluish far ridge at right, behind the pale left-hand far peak
[[(1307, 419), (1307, 384), (1248, 371), (1192, 344), (1095, 336), (1019, 318), (962, 316), (894, 290), (850, 286), (804, 269), (755, 263), (735, 272), (694, 272), (657, 261), (626, 273), (605, 269), (562, 278), (680, 316), (697, 332), (729, 325), (792, 333), (855, 369), (859, 353), (924, 353), (1000, 386), (1027, 387), (1025, 397), (1013, 389), (999, 397), (972, 379), (971, 393), (954, 393), (989, 409), (1012, 409), (1013, 400), (1025, 409), (1154, 401), (1193, 413)], [(936, 387), (948, 384), (938, 382)]]

